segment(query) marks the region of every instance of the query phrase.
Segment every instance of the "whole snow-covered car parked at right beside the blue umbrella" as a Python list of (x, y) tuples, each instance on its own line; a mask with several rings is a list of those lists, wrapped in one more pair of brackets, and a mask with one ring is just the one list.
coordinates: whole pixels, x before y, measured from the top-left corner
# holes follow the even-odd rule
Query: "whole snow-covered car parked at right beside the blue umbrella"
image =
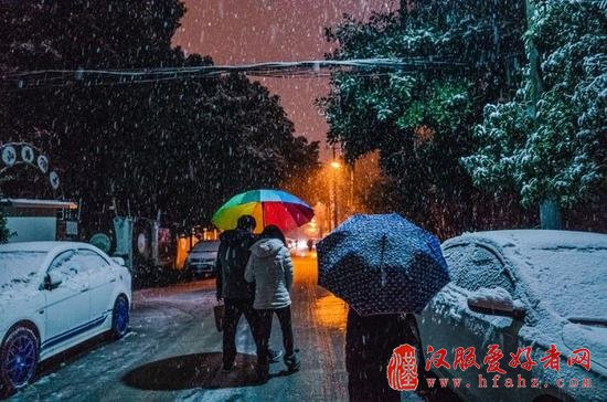
[[(448, 387), (466, 401), (607, 401), (606, 234), (467, 233), (446, 241), (443, 252), (451, 283), (412, 322), (420, 371), (430, 360), (433, 374), (448, 379)], [(503, 372), (488, 370), (491, 361), (484, 358), (491, 345), (499, 352), (490, 356), (503, 355), (498, 360)], [(551, 346), (561, 355), (542, 361)], [(461, 363), (454, 364), (456, 349), (464, 348), (462, 357), (469, 347), (479, 368), (462, 370)], [(531, 347), (535, 366), (521, 367), (526, 358), (519, 348), (525, 347)], [(447, 364), (433, 362), (440, 349), (447, 352)], [(578, 349), (589, 351), (589, 370), (567, 360), (582, 359)], [(556, 366), (544, 368), (549, 362), (557, 363), (558, 371)], [(434, 388), (440, 387), (436, 381)]]

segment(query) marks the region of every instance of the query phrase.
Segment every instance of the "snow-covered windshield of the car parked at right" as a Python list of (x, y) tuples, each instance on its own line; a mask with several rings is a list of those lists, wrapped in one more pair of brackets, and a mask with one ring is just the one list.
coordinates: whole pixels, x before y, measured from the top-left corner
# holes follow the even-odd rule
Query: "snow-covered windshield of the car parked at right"
[(607, 248), (530, 248), (520, 268), (565, 318), (607, 318)]

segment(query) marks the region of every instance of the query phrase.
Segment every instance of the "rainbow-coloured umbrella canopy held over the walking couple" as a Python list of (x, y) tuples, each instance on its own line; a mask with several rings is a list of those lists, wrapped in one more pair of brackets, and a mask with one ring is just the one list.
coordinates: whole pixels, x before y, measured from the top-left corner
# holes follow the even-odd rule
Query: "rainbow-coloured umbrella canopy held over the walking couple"
[(315, 212), (286, 191), (251, 190), (232, 197), (213, 214), (212, 222), (222, 230), (235, 229), (242, 215), (255, 218), (257, 232), (270, 224), (288, 232), (308, 223)]

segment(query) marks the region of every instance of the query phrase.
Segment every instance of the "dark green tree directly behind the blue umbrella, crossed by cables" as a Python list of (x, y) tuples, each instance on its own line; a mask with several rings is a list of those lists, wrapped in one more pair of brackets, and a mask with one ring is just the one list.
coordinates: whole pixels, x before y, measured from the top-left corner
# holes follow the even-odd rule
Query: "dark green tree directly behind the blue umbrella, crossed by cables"
[[(425, 1), (368, 23), (345, 19), (329, 30), (331, 59), (401, 57), (416, 67), (337, 73), (321, 102), (329, 139), (348, 159), (374, 150), (398, 210), (448, 236), (470, 228), (483, 203), (459, 163), (484, 104), (511, 96), (524, 59), (521, 2)], [(430, 62), (441, 62), (435, 68)], [(388, 195), (390, 194), (390, 195)], [(373, 202), (375, 203), (375, 202)]]

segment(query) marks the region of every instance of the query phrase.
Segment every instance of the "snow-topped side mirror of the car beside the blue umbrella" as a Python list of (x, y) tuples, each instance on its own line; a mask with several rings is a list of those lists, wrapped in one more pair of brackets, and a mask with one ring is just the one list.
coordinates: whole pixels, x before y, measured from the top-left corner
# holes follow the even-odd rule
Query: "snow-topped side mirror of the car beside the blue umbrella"
[(525, 308), (518, 306), (502, 287), (478, 289), (468, 296), (468, 308), (475, 313), (511, 317), (520, 321), (525, 318)]

